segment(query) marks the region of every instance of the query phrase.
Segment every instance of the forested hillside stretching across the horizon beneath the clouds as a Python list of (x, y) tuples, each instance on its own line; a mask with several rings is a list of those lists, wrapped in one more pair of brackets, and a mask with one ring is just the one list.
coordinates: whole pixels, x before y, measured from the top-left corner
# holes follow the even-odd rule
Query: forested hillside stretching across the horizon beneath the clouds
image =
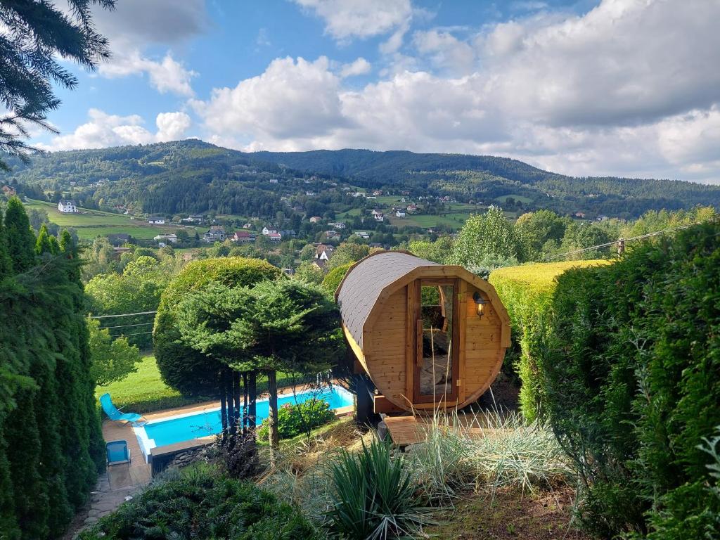
[(42, 190), (50, 199), (73, 197), (84, 207), (163, 215), (212, 211), (274, 217), (288, 210), (323, 215), (333, 204), (336, 211), (350, 207), (351, 186), (588, 217), (720, 206), (719, 186), (575, 178), (493, 156), (370, 150), (243, 153), (184, 140), (50, 153), (27, 164), (5, 159), (11, 171), (1, 174), (0, 182), (25, 186), (32, 197)]

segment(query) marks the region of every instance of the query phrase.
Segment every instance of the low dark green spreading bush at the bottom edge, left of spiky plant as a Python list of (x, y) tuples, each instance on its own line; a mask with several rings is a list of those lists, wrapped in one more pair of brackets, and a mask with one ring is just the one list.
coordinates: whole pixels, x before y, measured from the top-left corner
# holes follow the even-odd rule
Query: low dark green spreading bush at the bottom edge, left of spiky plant
[(297, 508), (251, 482), (208, 466), (168, 474), (114, 513), (101, 518), (79, 540), (318, 539)]

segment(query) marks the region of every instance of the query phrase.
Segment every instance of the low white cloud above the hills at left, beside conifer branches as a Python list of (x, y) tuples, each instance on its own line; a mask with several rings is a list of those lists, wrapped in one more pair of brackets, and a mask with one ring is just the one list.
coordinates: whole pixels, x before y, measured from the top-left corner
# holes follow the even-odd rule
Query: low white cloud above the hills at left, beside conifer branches
[(156, 143), (182, 138), (190, 127), (190, 117), (184, 112), (158, 114), (158, 131), (152, 133), (143, 127), (138, 114), (120, 116), (99, 109), (88, 111), (89, 121), (79, 125), (72, 133), (53, 137), (50, 144), (38, 144), (43, 150), (75, 150), (77, 148), (105, 148), (107, 146)]

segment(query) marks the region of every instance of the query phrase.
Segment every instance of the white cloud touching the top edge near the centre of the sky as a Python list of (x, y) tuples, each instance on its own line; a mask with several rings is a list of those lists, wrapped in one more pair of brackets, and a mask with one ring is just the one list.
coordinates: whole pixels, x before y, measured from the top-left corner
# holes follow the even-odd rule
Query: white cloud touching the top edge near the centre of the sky
[(336, 40), (387, 34), (406, 24), (413, 14), (410, 0), (294, 0), (325, 21), (325, 32)]

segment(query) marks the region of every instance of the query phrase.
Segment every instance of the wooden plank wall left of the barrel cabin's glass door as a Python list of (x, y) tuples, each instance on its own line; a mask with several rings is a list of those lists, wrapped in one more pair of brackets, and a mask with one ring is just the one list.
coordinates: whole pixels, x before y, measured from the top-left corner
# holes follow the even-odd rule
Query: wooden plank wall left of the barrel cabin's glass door
[(372, 340), (372, 354), (367, 359), (372, 379), (384, 395), (405, 403), (405, 325), (406, 287), (394, 292), (365, 338)]

